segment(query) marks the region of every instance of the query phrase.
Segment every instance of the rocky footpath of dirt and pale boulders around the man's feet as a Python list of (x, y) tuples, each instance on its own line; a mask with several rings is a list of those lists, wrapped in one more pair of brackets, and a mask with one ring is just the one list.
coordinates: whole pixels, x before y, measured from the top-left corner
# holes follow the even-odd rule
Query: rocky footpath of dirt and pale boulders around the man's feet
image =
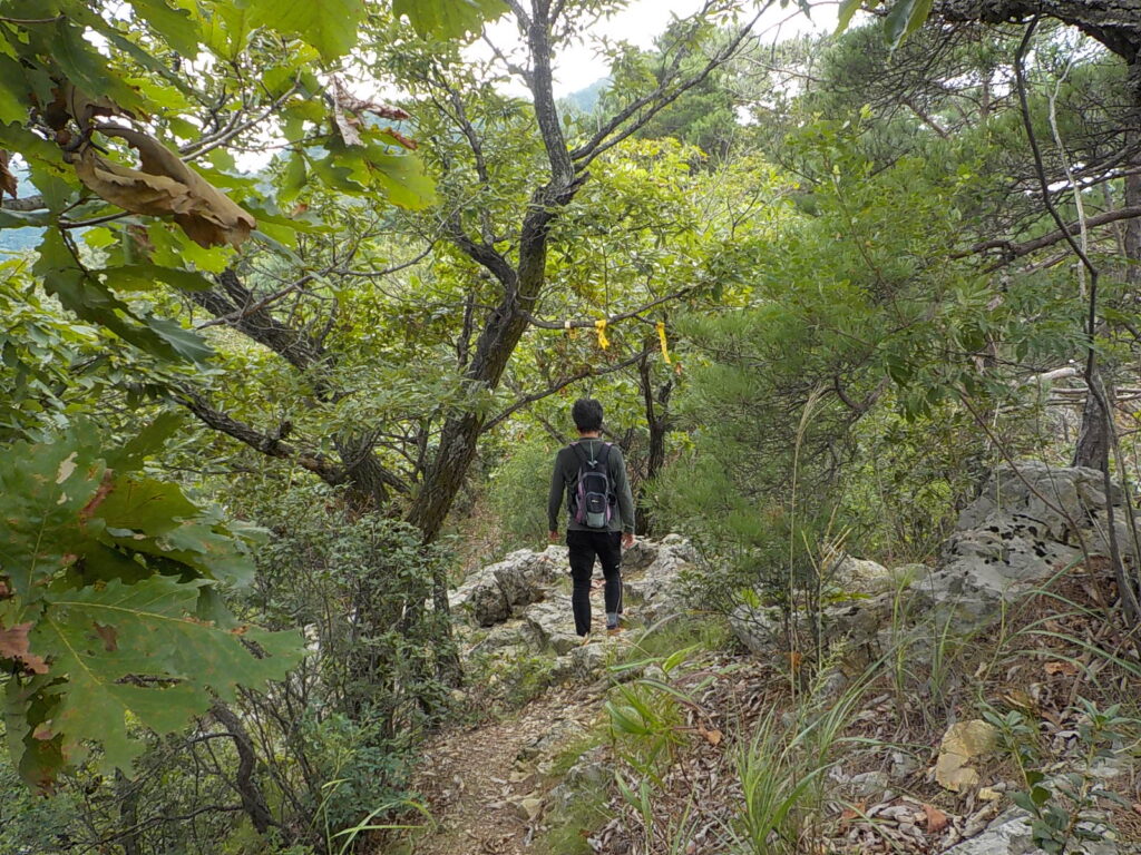
[[(677, 537), (639, 542), (625, 553), (624, 617), (631, 629), (675, 608), (672, 583), (691, 557), (691, 547)], [(474, 573), (453, 595), (453, 613), (467, 618), (460, 632), (464, 656), (492, 656), (508, 669), (528, 657), (547, 657), (551, 685), (509, 718), (450, 731), (423, 747), (413, 788), (427, 800), (435, 828), (412, 840), (415, 855), (539, 852), (549, 791), (557, 783), (552, 764), (593, 730), (608, 685), (606, 666), (637, 634), (602, 636), (583, 646), (574, 634), (565, 577), (565, 547), (520, 551)], [(601, 619), (601, 591), (596, 609)]]

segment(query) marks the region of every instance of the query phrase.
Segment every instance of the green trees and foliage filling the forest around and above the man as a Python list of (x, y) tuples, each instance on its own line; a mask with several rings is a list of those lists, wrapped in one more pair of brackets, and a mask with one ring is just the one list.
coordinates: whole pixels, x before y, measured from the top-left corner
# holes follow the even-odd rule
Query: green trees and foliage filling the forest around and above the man
[(578, 397), (711, 613), (934, 561), (1000, 464), (1133, 496), (1134, 0), (637, 11), (0, 0), (0, 849), (406, 821)]

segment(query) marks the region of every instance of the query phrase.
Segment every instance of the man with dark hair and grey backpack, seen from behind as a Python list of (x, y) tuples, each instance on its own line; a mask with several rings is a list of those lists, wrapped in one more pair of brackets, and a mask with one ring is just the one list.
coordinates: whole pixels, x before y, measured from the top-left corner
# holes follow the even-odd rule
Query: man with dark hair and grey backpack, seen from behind
[(567, 546), (570, 549), (570, 578), (574, 591), (570, 608), (575, 632), (590, 640), (590, 580), (594, 556), (602, 562), (606, 577), (606, 629), (618, 632), (622, 612), (622, 547), (634, 543), (634, 500), (626, 480), (622, 451), (604, 442), (602, 405), (592, 398), (575, 401), (570, 409), (578, 440), (559, 450), (551, 474), (547, 502), (550, 539), (559, 539), (559, 508), (566, 494)]

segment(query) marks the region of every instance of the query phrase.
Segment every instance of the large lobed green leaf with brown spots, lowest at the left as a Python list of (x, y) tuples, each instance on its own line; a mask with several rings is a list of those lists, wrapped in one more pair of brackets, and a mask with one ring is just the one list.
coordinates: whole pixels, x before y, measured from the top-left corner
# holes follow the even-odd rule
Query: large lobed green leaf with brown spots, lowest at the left
[[(204, 712), (213, 692), (228, 700), (237, 685), (283, 679), (301, 657), (297, 634), (241, 634), (199, 620), (205, 584), (156, 576), (50, 595), (32, 640), (35, 650), (50, 651), (51, 675), (66, 683), (50, 715), (30, 724), (58, 735), (64, 757), (84, 741), (99, 742), (103, 767), (129, 772), (141, 751), (129, 716), (169, 733)], [(258, 658), (243, 638), (270, 656)]]

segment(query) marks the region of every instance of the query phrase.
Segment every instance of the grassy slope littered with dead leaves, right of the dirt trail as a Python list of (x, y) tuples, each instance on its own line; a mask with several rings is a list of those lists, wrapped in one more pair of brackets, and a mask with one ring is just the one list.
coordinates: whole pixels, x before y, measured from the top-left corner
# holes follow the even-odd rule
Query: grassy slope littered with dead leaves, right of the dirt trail
[[(1047, 852), (1141, 840), (1141, 663), (1108, 571), (1071, 571), (972, 637), (930, 629), (817, 662), (698, 645), (638, 663), (609, 692), (609, 790), (584, 788), (534, 850), (939, 853), (1017, 804)], [(994, 743), (955, 792), (940, 746), (973, 720)]]

